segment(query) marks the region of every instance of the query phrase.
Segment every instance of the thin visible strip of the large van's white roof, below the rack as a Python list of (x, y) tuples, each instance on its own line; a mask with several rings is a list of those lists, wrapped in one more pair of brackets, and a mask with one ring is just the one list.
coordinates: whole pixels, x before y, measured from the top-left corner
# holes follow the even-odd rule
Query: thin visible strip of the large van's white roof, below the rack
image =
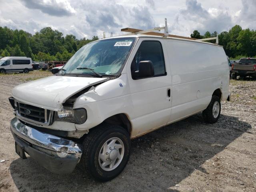
[[(145, 34), (136, 34), (136, 35), (121, 35), (121, 36), (113, 36), (113, 37), (108, 37), (108, 38), (103, 38), (100, 40), (104, 39), (112, 39), (112, 38), (124, 38), (124, 37), (136, 37), (136, 38), (159, 38), (159, 39), (174, 39), (174, 40), (181, 40), (181, 41), (189, 41), (189, 42), (196, 42), (196, 43), (203, 43), (203, 44), (209, 44), (209, 45), (214, 45), (214, 46), (220, 46), (218, 44), (213, 44), (213, 43), (208, 43), (208, 42), (203, 42), (203, 41), (196, 41), (196, 40), (190, 40), (190, 39), (184, 39), (184, 38), (176, 38), (176, 37), (166, 37), (163, 38), (162, 36), (156, 36), (156, 35), (145, 35)], [(99, 41), (99, 40), (97, 40)]]

